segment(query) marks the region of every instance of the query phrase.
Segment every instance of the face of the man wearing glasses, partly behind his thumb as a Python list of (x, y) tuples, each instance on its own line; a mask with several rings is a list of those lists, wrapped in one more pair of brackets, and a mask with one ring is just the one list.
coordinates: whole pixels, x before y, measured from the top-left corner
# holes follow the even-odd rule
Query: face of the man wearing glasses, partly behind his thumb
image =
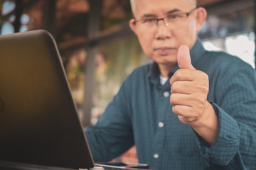
[[(198, 25), (196, 10), (178, 23), (158, 21), (158, 25), (146, 27), (139, 23), (141, 18), (164, 18), (176, 13), (188, 13), (196, 7), (194, 0), (136, 0), (134, 25), (142, 49), (158, 64), (176, 64), (178, 47), (188, 45), (191, 49), (196, 42)], [(144, 23), (143, 23), (144, 24)]]

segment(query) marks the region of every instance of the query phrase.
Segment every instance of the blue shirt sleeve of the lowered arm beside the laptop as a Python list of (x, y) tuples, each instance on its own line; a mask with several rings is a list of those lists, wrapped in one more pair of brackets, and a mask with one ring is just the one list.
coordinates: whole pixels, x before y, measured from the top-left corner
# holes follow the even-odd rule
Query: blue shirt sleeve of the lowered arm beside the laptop
[(85, 131), (96, 162), (110, 161), (134, 145), (131, 120), (127, 113), (129, 101), (124, 81), (97, 123)]

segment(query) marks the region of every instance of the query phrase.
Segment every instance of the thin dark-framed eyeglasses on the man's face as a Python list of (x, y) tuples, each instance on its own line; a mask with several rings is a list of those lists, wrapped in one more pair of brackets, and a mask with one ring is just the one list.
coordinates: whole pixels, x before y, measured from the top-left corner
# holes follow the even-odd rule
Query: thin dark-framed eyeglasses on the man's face
[[(196, 7), (197, 8), (197, 7)], [(145, 28), (145, 29), (153, 29), (158, 26), (159, 21), (164, 21), (165, 25), (167, 27), (171, 28), (178, 28), (182, 25), (183, 21), (185, 21), (186, 18), (188, 18), (193, 11), (196, 10), (196, 8), (193, 8), (188, 13), (171, 13), (164, 18), (153, 18), (153, 17), (146, 17), (139, 20), (134, 21), (134, 25), (136, 25), (139, 28)]]

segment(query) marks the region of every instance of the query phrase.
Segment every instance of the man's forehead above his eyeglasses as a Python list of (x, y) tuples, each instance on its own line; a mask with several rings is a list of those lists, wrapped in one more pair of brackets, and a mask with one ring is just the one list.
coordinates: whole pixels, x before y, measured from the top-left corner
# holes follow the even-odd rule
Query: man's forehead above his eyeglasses
[(196, 0), (134, 0), (133, 5), (134, 15), (139, 18), (146, 14), (161, 16), (173, 9), (187, 12), (196, 7)]

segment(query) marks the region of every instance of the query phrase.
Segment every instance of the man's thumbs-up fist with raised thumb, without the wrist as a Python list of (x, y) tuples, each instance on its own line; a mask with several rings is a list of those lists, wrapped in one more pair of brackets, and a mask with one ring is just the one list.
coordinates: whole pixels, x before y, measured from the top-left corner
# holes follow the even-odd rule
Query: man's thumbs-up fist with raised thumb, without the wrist
[(170, 103), (173, 112), (186, 125), (197, 126), (203, 121), (208, 95), (208, 75), (191, 64), (189, 49), (181, 45), (177, 54), (178, 69), (171, 77)]

